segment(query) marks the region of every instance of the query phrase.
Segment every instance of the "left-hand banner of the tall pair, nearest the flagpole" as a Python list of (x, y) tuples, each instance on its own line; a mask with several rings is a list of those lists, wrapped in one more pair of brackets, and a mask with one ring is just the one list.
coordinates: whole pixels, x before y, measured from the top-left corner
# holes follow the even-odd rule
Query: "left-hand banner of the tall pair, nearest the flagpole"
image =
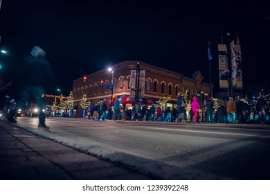
[(227, 46), (226, 44), (218, 44), (219, 53), (219, 87), (228, 88), (228, 58), (227, 58)]

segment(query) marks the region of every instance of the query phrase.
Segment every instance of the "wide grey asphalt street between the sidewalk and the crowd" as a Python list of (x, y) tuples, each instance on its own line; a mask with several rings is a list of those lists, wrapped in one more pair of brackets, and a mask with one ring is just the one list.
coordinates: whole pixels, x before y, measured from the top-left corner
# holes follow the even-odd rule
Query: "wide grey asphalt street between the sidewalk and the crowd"
[[(17, 121), (15, 125), (1, 122), (1, 126), (13, 126), (12, 132), (35, 135), (35, 141), (30, 138), (27, 141), (30, 148), (33, 142), (41, 146), (43, 143), (37, 140), (46, 139), (53, 142), (52, 146), (46, 146), (48, 155), (54, 155), (55, 150), (48, 148), (56, 148), (57, 143), (97, 159), (98, 164), (106, 161), (132, 173), (122, 178), (116, 174), (116, 179), (269, 179), (269, 125), (47, 118), (51, 128), (42, 131), (37, 130), (37, 118), (22, 117)], [(57, 157), (65, 156), (57, 152)], [(62, 166), (53, 159), (50, 158)], [(69, 160), (66, 159), (66, 164)], [(62, 169), (69, 172), (66, 166)], [(74, 171), (83, 172), (80, 168)], [(84, 178), (73, 175), (71, 179), (91, 179), (88, 175), (85, 173)], [(105, 175), (104, 179), (112, 177)]]

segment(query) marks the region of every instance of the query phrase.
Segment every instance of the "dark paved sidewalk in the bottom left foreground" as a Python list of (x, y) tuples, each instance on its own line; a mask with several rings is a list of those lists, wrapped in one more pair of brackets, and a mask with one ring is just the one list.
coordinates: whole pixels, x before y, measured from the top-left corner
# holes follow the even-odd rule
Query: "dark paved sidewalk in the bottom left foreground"
[(0, 120), (1, 180), (155, 179)]

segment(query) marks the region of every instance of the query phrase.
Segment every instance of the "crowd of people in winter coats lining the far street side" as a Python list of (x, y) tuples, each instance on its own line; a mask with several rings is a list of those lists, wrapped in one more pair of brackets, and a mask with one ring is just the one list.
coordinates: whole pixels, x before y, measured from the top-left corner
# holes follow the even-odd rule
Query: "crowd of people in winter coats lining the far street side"
[[(138, 103), (133, 107), (127, 107), (123, 110), (120, 106), (118, 96), (114, 103), (114, 109), (107, 107), (106, 98), (96, 105), (89, 105), (87, 115), (89, 119), (98, 121), (107, 121), (107, 119), (127, 120), (127, 121), (162, 121), (177, 123), (250, 123), (260, 121), (262, 124), (269, 123), (269, 105), (264, 96), (258, 98), (255, 110), (251, 105), (246, 103), (244, 98), (235, 100), (230, 97), (226, 102), (226, 107), (220, 107), (214, 111), (213, 100), (208, 96), (204, 101), (204, 118), (201, 116), (201, 106), (197, 96), (192, 96), (190, 103), (190, 112), (187, 115), (187, 103), (183, 94), (179, 93), (176, 107), (161, 107), (159, 105), (143, 105)], [(256, 120), (256, 115), (258, 119)], [(253, 118), (252, 118), (253, 117)], [(188, 119), (189, 118), (189, 119)]]

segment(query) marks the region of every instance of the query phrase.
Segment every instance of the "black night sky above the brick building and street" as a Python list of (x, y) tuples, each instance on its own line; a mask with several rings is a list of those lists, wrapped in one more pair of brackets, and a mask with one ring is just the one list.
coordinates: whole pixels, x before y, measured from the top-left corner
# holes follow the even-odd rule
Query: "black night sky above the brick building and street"
[(267, 1), (255, 3), (2, 0), (0, 48), (8, 55), (0, 55), (1, 74), (19, 92), (16, 70), (40, 46), (53, 67), (51, 94), (60, 88), (68, 95), (73, 80), (124, 60), (190, 78), (199, 70), (208, 82), (210, 42), (211, 79), (218, 88), (217, 44), (227, 33), (232, 39), (238, 33), (244, 86), (269, 80), (270, 9)]

